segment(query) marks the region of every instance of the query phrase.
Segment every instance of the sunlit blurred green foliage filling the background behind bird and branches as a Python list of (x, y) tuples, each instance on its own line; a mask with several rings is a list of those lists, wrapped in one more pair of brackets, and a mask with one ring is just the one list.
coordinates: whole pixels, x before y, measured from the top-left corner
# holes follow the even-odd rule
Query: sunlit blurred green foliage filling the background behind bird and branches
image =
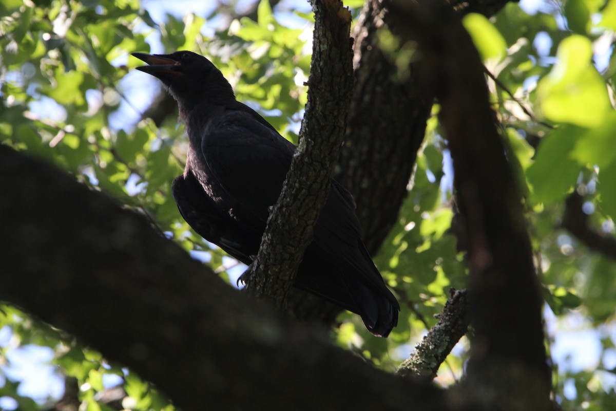
[[(232, 83), (238, 99), (261, 110), (295, 141), (306, 103), (312, 21), (298, 12), (295, 21), (304, 26), (288, 28), (262, 1), (257, 22), (242, 17), (216, 36), (206, 36), (209, 22), (223, 17), (221, 10), (213, 13), (208, 20), (188, 13), (154, 22), (137, 0), (3, 0), (0, 138), (145, 214), (168, 237), (197, 252), (193, 255), (229, 279), (227, 267), (233, 262), (188, 229), (169, 195), (170, 182), (184, 167), (183, 129), (175, 119), (161, 127), (141, 119), (141, 110), (152, 99), (146, 89), (156, 83), (134, 73), (140, 62), (128, 54), (149, 51), (154, 34), (160, 33), (165, 50), (192, 49), (207, 55)], [(496, 79), (489, 80), (493, 104), (525, 194), (546, 311), (556, 315), (556, 324), (567, 324), (573, 312), (601, 335), (594, 367), (572, 368), (566, 360), (557, 364), (556, 398), (567, 407), (613, 409), (615, 379), (610, 373), (616, 368), (616, 335), (610, 330), (616, 265), (593, 253), (560, 223), (565, 198), (577, 190), (585, 198), (591, 227), (606, 236), (615, 234), (616, 183), (610, 176), (616, 175), (611, 145), (616, 125), (616, 0), (540, 2), (532, 12), (509, 4), (491, 20), (469, 15), (464, 24)], [(334, 330), (334, 341), (387, 370), (393, 370), (426, 327), (435, 324), (434, 314), (442, 309), (448, 289), (464, 287), (463, 253), (456, 250), (450, 230), (450, 158), (439, 133), (435, 116), (428, 122), (399, 222), (375, 258), (402, 301), (399, 327), (387, 340), (377, 339), (365, 331), (359, 317), (342, 314), (343, 324)], [(106, 375), (115, 375), (114, 381), (123, 384), (132, 399), (126, 408), (172, 409), (129, 370), (108, 364), (99, 353), (14, 307), (2, 307), (0, 328), (12, 336), (3, 354), (28, 344), (51, 349), (51, 363), (60, 373), (78, 379), (87, 409), (106, 409), (96, 396), (108, 381)], [(464, 349), (456, 349), (442, 366), (441, 383), (450, 383), (448, 367), (453, 375), (461, 374), (463, 358)], [(10, 364), (4, 366), (8, 368)], [(15, 399), (22, 410), (44, 407), (23, 396), (18, 381), (11, 378), (5, 378), (0, 397)]]

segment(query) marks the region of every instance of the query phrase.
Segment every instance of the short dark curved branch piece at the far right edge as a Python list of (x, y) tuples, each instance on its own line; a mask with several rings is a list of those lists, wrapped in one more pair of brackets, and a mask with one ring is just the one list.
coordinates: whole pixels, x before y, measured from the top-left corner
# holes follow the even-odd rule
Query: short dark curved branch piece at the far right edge
[(573, 192), (565, 201), (561, 226), (583, 242), (591, 250), (607, 258), (616, 259), (616, 239), (602, 235), (588, 225), (588, 214), (582, 210), (584, 198)]

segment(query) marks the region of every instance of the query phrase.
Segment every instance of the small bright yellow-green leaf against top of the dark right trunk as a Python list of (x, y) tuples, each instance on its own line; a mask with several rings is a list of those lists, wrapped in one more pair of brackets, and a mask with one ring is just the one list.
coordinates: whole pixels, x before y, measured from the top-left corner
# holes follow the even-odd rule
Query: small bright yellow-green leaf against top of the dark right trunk
[(471, 35), (482, 60), (492, 58), (500, 60), (505, 57), (507, 43), (500, 31), (484, 15), (469, 13), (464, 16), (462, 23)]

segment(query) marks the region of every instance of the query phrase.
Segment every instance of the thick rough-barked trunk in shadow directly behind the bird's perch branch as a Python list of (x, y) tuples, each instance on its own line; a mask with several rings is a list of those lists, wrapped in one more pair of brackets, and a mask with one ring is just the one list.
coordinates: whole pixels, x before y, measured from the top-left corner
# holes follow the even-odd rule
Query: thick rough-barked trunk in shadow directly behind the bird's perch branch
[(388, 16), (380, 1), (368, 0), (355, 28), (357, 84), (336, 173), (357, 202), (370, 253), (397, 221), (432, 107), (415, 65), (400, 78), (392, 56), (381, 50), (377, 33), (389, 30)]

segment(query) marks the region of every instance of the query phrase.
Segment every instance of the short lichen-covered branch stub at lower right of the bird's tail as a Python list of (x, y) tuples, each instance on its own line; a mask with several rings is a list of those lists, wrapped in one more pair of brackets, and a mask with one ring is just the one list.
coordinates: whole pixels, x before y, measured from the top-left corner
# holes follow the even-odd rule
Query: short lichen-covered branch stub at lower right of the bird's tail
[(400, 365), (397, 370), (398, 375), (432, 381), (440, 364), (466, 334), (471, 320), (468, 292), (452, 289), (450, 294), (443, 312), (439, 314), (439, 322), (424, 336), (411, 356)]

